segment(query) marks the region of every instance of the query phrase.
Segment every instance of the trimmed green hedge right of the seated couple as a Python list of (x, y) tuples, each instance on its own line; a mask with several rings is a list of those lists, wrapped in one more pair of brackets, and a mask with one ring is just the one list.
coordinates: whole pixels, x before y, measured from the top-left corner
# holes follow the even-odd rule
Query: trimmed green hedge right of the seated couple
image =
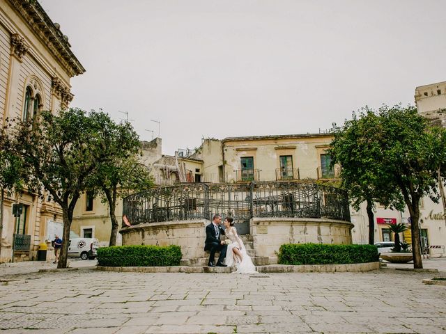
[(279, 264), (348, 264), (376, 262), (374, 245), (284, 244), (279, 248)]

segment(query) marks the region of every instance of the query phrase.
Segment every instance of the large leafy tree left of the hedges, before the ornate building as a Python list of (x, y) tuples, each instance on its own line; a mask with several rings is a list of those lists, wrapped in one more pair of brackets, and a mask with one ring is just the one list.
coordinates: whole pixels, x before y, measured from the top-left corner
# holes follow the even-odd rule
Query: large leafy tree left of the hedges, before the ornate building
[(132, 134), (121, 130), (106, 113), (81, 109), (58, 115), (43, 111), (39, 126), (19, 122), (15, 127), (15, 153), (31, 175), (27, 186), (38, 192), (46, 189), (62, 208), (64, 242), (58, 268), (66, 268), (72, 214), (89, 176), (128, 145)]

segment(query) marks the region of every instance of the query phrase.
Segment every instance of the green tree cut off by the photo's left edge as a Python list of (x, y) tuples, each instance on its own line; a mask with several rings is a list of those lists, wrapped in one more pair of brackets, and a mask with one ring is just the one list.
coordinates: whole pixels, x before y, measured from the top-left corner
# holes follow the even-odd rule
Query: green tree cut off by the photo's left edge
[(13, 143), (8, 134), (8, 123), (0, 132), (0, 254), (1, 234), (3, 233), (3, 200), (23, 188), (22, 161), (13, 153)]

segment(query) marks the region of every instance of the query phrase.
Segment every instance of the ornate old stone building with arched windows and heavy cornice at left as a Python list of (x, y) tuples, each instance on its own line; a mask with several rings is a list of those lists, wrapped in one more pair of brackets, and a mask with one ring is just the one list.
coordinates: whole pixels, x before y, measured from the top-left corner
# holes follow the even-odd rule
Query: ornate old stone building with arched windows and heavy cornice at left
[[(70, 78), (84, 73), (68, 37), (52, 22), (38, 1), (0, 0), (0, 117), (29, 119), (41, 110), (66, 108), (73, 95)], [(23, 205), (13, 216), (12, 205)], [(49, 196), (35, 193), (6, 196), (3, 203), (0, 262), (13, 257), (14, 235), (21, 246), (15, 259), (36, 257), (38, 245), (54, 238), (61, 209)]]

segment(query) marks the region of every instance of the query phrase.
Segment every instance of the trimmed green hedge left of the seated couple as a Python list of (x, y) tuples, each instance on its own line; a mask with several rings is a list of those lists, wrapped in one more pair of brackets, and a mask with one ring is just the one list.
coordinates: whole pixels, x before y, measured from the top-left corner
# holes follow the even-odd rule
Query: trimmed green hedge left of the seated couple
[(178, 266), (180, 246), (112, 246), (98, 248), (98, 265), (104, 267)]

